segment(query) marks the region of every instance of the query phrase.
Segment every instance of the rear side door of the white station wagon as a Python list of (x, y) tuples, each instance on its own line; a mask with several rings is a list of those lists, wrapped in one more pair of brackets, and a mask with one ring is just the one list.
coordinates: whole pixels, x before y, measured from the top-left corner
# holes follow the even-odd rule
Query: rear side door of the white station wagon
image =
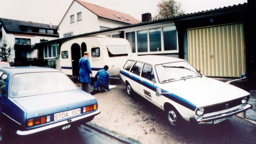
[(141, 62), (135, 62), (128, 76), (131, 79), (130, 85), (132, 87), (132, 90), (138, 94), (140, 94), (138, 83), (139, 83), (139, 77), (140, 77), (142, 65), (143, 63)]

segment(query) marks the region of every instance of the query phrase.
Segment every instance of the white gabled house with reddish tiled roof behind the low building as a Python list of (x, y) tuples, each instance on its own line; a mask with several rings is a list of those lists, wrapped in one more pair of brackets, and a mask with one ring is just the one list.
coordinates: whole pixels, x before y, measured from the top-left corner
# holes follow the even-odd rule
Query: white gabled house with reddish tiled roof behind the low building
[[(140, 21), (128, 14), (74, 0), (57, 29), (62, 38), (136, 23)], [(112, 35), (119, 37), (119, 32)]]

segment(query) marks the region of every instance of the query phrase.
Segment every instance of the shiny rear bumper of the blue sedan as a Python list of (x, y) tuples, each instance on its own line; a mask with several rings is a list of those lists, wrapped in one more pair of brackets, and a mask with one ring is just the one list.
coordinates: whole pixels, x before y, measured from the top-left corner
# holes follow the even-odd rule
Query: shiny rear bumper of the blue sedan
[(17, 135), (29, 135), (29, 134), (41, 132), (41, 131), (44, 131), (44, 130), (47, 130), (47, 129), (55, 128), (55, 127), (58, 127), (58, 126), (68, 125), (68, 124), (73, 123), (73, 122), (78, 121), (78, 120), (94, 117), (98, 114), (100, 114), (100, 110), (96, 110), (94, 112), (91, 112), (91, 113), (88, 113), (88, 114), (85, 114), (85, 115), (81, 115), (81, 116), (78, 116), (78, 117), (74, 117), (74, 118), (71, 118), (71, 119), (68, 119), (68, 120), (64, 120), (64, 121), (61, 121), (61, 122), (58, 122), (58, 123), (46, 125), (46, 126), (39, 127), (39, 128), (36, 128), (36, 129), (25, 130), (25, 131), (17, 130), (16, 134)]

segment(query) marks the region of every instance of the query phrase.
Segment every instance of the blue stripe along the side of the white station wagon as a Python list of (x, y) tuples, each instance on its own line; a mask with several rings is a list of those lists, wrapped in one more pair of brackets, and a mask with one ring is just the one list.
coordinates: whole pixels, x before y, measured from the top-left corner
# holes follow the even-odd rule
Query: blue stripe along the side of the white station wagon
[[(158, 88), (157, 86), (155, 86), (153, 84), (150, 84), (148, 82), (145, 82), (145, 81), (140, 82), (140, 81), (138, 81), (138, 78), (136, 78), (134, 76), (129, 76), (128, 73), (123, 71), (123, 70), (120, 70), (120, 74), (124, 75), (125, 77), (127, 77), (127, 78), (129, 78), (129, 79), (131, 79), (131, 80), (133, 80), (135, 82), (139, 82), (139, 84), (149, 88), (152, 91), (156, 91), (156, 89)], [(166, 91), (164, 89), (162, 89), (162, 92), (163, 93), (169, 93), (169, 91)], [(164, 97), (166, 97), (166, 98), (168, 98), (168, 99), (170, 99), (170, 100), (172, 100), (172, 101), (174, 101), (174, 102), (176, 102), (176, 103), (178, 103), (178, 104), (180, 104), (180, 105), (182, 105), (182, 106), (184, 106), (186, 108), (189, 108), (189, 109), (191, 109), (193, 111), (195, 111), (196, 108), (197, 108), (193, 103), (191, 103), (188, 100), (186, 100), (184, 98), (181, 98), (181, 97), (179, 97), (179, 96), (177, 96), (175, 94), (162, 94), (162, 96), (164, 96)]]

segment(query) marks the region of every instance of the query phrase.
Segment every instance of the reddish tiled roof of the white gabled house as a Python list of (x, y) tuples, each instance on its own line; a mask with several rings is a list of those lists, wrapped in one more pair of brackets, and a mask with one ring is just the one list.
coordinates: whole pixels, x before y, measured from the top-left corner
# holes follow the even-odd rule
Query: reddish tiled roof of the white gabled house
[(90, 4), (90, 3), (87, 3), (87, 2), (83, 2), (83, 1), (80, 1), (80, 0), (75, 0), (75, 1), (77, 1), (78, 3), (83, 5), (85, 8), (87, 8), (88, 10), (93, 12), (98, 17), (106, 18), (106, 19), (110, 19), (110, 20), (114, 20), (114, 21), (119, 21), (119, 22), (124, 22), (124, 23), (128, 23), (128, 24), (140, 23), (139, 20), (133, 18), (132, 16), (130, 16), (128, 14), (121, 13), (121, 12), (118, 12), (118, 11), (114, 11), (114, 10), (111, 10), (111, 9), (107, 9), (107, 8), (97, 6), (97, 5), (94, 5), (94, 4)]

